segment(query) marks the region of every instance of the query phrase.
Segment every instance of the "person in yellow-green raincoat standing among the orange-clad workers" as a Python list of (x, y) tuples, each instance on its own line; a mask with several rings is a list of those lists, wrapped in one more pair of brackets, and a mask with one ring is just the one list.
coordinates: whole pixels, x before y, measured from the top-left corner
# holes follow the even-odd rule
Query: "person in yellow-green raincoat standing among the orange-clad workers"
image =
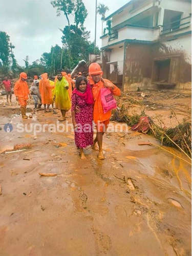
[(66, 120), (66, 112), (71, 109), (71, 100), (69, 97), (69, 83), (61, 73), (57, 74), (57, 80), (55, 81), (54, 100), (56, 109), (61, 111), (62, 119)]

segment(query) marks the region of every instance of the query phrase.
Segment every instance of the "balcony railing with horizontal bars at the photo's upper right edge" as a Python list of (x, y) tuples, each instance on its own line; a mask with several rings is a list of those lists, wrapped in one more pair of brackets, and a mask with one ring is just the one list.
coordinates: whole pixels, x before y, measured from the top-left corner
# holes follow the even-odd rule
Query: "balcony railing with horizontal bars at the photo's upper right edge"
[(191, 16), (185, 18), (177, 19), (174, 22), (165, 24), (162, 26), (161, 34), (173, 32), (179, 29), (185, 29), (190, 26)]

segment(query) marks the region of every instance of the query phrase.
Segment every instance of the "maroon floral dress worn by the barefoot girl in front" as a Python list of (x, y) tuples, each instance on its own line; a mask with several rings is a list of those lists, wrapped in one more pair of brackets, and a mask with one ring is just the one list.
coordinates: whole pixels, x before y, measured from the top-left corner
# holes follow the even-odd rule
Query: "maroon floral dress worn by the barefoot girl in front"
[(78, 128), (75, 129), (75, 144), (83, 148), (93, 145), (93, 104), (86, 101), (77, 94), (72, 95), (72, 111), (76, 105), (80, 108), (80, 113), (75, 113), (75, 121)]

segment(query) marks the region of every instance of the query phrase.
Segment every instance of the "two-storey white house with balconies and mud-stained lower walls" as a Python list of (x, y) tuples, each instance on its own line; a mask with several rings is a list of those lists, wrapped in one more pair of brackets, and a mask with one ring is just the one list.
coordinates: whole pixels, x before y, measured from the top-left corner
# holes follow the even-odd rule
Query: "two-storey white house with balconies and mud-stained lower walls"
[(191, 0), (131, 0), (109, 19), (106, 78), (123, 90), (191, 88)]

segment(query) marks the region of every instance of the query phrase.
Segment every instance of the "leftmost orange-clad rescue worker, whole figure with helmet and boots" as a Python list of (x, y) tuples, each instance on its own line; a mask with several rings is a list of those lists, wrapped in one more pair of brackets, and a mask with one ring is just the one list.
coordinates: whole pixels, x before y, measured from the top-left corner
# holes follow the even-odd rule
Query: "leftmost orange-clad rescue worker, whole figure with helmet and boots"
[(20, 73), (19, 80), (16, 81), (14, 86), (14, 94), (15, 94), (16, 100), (20, 104), (20, 111), (22, 112), (22, 118), (24, 119), (28, 118), (28, 116), (26, 116), (26, 106), (27, 106), (28, 95), (30, 94), (26, 80), (27, 80), (27, 74), (22, 72)]

